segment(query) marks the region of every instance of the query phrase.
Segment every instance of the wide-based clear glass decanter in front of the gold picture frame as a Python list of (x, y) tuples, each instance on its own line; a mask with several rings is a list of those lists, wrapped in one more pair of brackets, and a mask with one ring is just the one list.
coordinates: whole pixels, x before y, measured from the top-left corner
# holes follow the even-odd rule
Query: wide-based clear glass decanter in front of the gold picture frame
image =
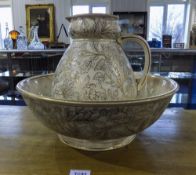
[(31, 33), (33, 33), (33, 40), (29, 44), (28, 49), (43, 50), (44, 44), (40, 41), (38, 37), (38, 26), (33, 26), (31, 29)]

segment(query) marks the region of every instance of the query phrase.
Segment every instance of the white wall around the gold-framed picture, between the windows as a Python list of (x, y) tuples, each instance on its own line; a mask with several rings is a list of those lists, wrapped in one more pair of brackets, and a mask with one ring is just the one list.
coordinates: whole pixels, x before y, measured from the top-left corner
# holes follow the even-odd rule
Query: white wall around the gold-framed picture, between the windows
[[(71, 0), (12, 0), (13, 9), (13, 25), (16, 30), (19, 26), (23, 26), (26, 29), (26, 4), (54, 4), (55, 6), (55, 32), (56, 35), (59, 32), (61, 24), (66, 26), (68, 29), (69, 23), (66, 21), (65, 17), (70, 16)], [(69, 39), (62, 31), (59, 38), (59, 42), (69, 43)]]

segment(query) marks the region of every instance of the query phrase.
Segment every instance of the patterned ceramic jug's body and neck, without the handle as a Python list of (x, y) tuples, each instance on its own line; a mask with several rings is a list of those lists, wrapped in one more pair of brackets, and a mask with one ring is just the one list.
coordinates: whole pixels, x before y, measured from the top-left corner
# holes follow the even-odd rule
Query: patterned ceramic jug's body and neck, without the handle
[(135, 99), (137, 83), (117, 38), (120, 27), (110, 15), (70, 17), (71, 45), (52, 83), (56, 99), (118, 101)]

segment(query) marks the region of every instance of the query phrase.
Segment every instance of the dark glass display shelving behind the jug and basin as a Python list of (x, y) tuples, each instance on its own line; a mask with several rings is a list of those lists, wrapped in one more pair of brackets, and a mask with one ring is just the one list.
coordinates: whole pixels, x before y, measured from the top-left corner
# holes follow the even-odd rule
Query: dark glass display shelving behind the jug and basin
[[(24, 78), (55, 71), (65, 49), (0, 51), (0, 104), (25, 105), (16, 84)], [(174, 79), (180, 85), (170, 106), (196, 109), (196, 57), (190, 49), (152, 49), (151, 73)], [(141, 49), (126, 50), (134, 71), (142, 71)], [(7, 57), (5, 56), (7, 55)], [(184, 61), (186, 57), (186, 61)], [(1, 90), (2, 89), (2, 90)]]

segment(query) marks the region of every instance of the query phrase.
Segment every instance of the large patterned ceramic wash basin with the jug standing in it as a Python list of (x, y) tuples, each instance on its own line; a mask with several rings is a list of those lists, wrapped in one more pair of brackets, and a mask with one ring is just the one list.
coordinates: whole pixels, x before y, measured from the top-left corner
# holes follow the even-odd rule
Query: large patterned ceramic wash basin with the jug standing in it
[(148, 76), (145, 91), (135, 100), (84, 102), (52, 98), (53, 74), (25, 79), (18, 91), (35, 116), (61, 141), (84, 150), (109, 150), (129, 144), (153, 124), (178, 89), (175, 81)]

